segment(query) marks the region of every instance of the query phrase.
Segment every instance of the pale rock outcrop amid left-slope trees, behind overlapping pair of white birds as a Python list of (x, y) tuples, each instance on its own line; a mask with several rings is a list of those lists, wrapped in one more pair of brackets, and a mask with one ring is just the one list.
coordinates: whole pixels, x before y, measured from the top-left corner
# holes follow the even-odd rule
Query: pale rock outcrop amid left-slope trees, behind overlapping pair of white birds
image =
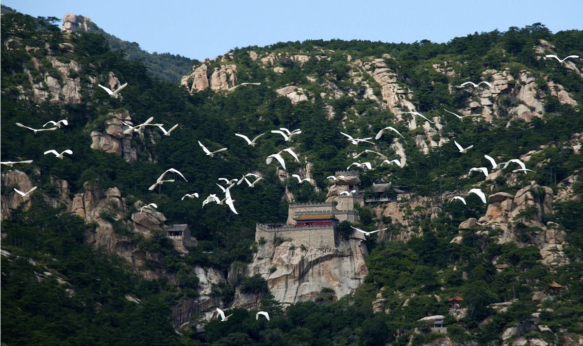
[(91, 149), (101, 149), (108, 153), (114, 153), (124, 158), (125, 161), (133, 162), (138, 159), (137, 150), (132, 147), (132, 133), (124, 134), (122, 121), (131, 124), (132, 118), (129, 112), (112, 112), (111, 118), (106, 120), (104, 132), (91, 132)]

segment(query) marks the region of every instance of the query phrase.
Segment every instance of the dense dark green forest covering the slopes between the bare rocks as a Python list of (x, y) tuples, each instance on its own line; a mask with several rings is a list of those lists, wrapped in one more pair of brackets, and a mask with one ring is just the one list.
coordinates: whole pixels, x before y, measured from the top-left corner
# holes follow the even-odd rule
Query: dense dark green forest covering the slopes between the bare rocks
[[(2, 343), (422, 345), (444, 337), (419, 324), (419, 319), (430, 315), (446, 316), (447, 337), (453, 343), (501, 344), (502, 331), (511, 326), (517, 326), (520, 333), (507, 338), (507, 344), (518, 335), (540, 338), (547, 344), (568, 344), (567, 336), (583, 335), (583, 158), (574, 150), (564, 150), (574, 134), (583, 133), (583, 119), (580, 106), (561, 103), (547, 81), (560, 84), (578, 103), (583, 101), (583, 82), (580, 73), (554, 60), (540, 59), (533, 48), (545, 40), (562, 56), (583, 55), (583, 31), (552, 33), (536, 23), (469, 34), (444, 44), (426, 40), (413, 44), (308, 40), (237, 48), (225, 55), (230, 56), (228, 63), (237, 65), (237, 83), (259, 81), (260, 86), (191, 93), (178, 84), (193, 63), (199, 64), (190, 59), (147, 54), (137, 44), (121, 41), (99, 28), (65, 34), (51, 18), (3, 10), (0, 24), (2, 161), (34, 160), (15, 167), (2, 165)], [(260, 56), (303, 54), (309, 59), (299, 63), (282, 58), (276, 65), (283, 73), (276, 73), (251, 59), (250, 51)], [(321, 55), (325, 58), (318, 58)], [(415, 109), (427, 118), (440, 119), (442, 127), (436, 137), (429, 138), (423, 125), (412, 129), (399, 122), (398, 116), (378, 101), (382, 99), (380, 84), (367, 75), (363, 79), (373, 89), (374, 98), (364, 97), (364, 87), (351, 79), (357, 68), (347, 63), (348, 56), (352, 61), (384, 57), (387, 68), (395, 72), (396, 83), (412, 94), (410, 102)], [(76, 62), (82, 67), (65, 76), (52, 57), (62, 64)], [(455, 75), (447, 76), (432, 68), (442, 62), (461, 63), (452, 64)], [(217, 59), (209, 65), (220, 68), (226, 62)], [(581, 60), (575, 65), (580, 68)], [(507, 69), (516, 84), (525, 83), (521, 79), (524, 71), (531, 73), (544, 105), (542, 114), (528, 121), (513, 118), (510, 110), (522, 101), (512, 95), (499, 96), (503, 100), (496, 101), (500, 108), (491, 121), (459, 121), (444, 110), (463, 110), (468, 99), (479, 101), (471, 90), (450, 86), (467, 80), (477, 82), (484, 71), (492, 69)], [(128, 83), (120, 98), (109, 97), (97, 86), (106, 85), (110, 74)], [(62, 97), (39, 101), (38, 90), (52, 93), (42, 82), (48, 76), (62, 85), (67, 79), (78, 79), (80, 101), (65, 102)], [(301, 88), (307, 100), (291, 102), (275, 91), (290, 85)], [(328, 97), (334, 90), (341, 96)], [(179, 126), (171, 136), (161, 136), (152, 127), (143, 136), (132, 137), (135, 161), (92, 149), (91, 133), (105, 132), (112, 114), (122, 111), (129, 112), (134, 124), (153, 116), (154, 122), (163, 123), (166, 129), (175, 123)], [(403, 115), (403, 119), (408, 121), (408, 116)], [(15, 125), (19, 122), (38, 129), (49, 120), (63, 118), (69, 125), (51, 132), (34, 134)], [(479, 235), (483, 231), (480, 225), (459, 229), (462, 221), (479, 219), (486, 213), (487, 205), (475, 195), (466, 197), (467, 206), (447, 200), (431, 217), (423, 216), (425, 209), (409, 207), (412, 221), (407, 225), (379, 217), (374, 210), (378, 206), (367, 204), (357, 207), (360, 221), (354, 226), (372, 231), (382, 224), (388, 227), (389, 235), (412, 230), (414, 236), (408, 241), (381, 241), (377, 235), (368, 238), (364, 242), (370, 252), (368, 276), (353, 294), (336, 299), (326, 296), (330, 292), (324, 289), (325, 299), (283, 306), (269, 294), (265, 278), (245, 277), (213, 287), (212, 295), (222, 299), (226, 313), (233, 313), (228, 322), (213, 319), (204, 324), (203, 332), (194, 326), (179, 329), (173, 325), (173, 306), (180, 299), (200, 294), (201, 278), (194, 266), (225, 273), (246, 266), (257, 252), (255, 224), (286, 219), (286, 192), (293, 194), (294, 202), (324, 202), (331, 184), (325, 177), (345, 170), (355, 161), (353, 153), (370, 148), (355, 148), (340, 132), (374, 137), (389, 125), (405, 137), (399, 140), (406, 165), (381, 167), (382, 160), (369, 157), (375, 169), (361, 172), (363, 190), (374, 182), (390, 180), (395, 186), (415, 189), (419, 197), (440, 200), (476, 186), (488, 189), (490, 195), (514, 194), (536, 184), (556, 194), (561, 182), (572, 177), (570, 197), (556, 200), (553, 213), (542, 218), (543, 224), (556, 223), (566, 233), (562, 251), (568, 261), (560, 266), (541, 262), (533, 239), (544, 230), (528, 223), (536, 210), (521, 215), (523, 223), (516, 225), (518, 241), (501, 243), (496, 238), (501, 231), (493, 230), (484, 238)], [(302, 133), (293, 142), (284, 142), (282, 136), (269, 133), (280, 127), (299, 128)], [(234, 133), (250, 138), (267, 134), (257, 147), (251, 147)], [(422, 142), (427, 143), (447, 140), (424, 152), (416, 143), (418, 135), (426, 136)], [(474, 147), (460, 154), (453, 139)], [(228, 150), (206, 156), (199, 140), (210, 150)], [(382, 137), (375, 143), (374, 150), (398, 158), (391, 140)], [(286, 171), (290, 175), (303, 172), (310, 163), (314, 185), (294, 183), (291, 177), (282, 179), (275, 164), (266, 164), (267, 156), (290, 146), (301, 162), (286, 160)], [(73, 154), (56, 160), (43, 154), (50, 149), (71, 149)], [(534, 172), (514, 180), (503, 175), (486, 183), (483, 176), (468, 175), (471, 167), (487, 167), (484, 154), (508, 160), (529, 151), (533, 154), (526, 165)], [(148, 190), (168, 168), (179, 170), (188, 181), (176, 179)], [(13, 210), (5, 206), (9, 202), (5, 196), (19, 186), (5, 183), (10, 170), (24, 172), (33, 186), (38, 186), (31, 203)], [(503, 172), (509, 176), (511, 170)], [(265, 179), (255, 188), (233, 189), (239, 214), (215, 204), (201, 208), (203, 198), (217, 193), (217, 178), (240, 178), (248, 172), (261, 172)], [(67, 196), (61, 196), (57, 180), (68, 183)], [(101, 218), (111, 219), (117, 236), (160, 254), (163, 275), (147, 280), (115, 252), (89, 243), (96, 223), (87, 223), (70, 207), (75, 194), (88, 186), (92, 190), (120, 190), (127, 202), (125, 215), (104, 214)], [(195, 191), (201, 199), (181, 200), (185, 193)], [(153, 230), (150, 236), (132, 231), (128, 223), (132, 213), (139, 211), (138, 201), (156, 203), (168, 224), (188, 224), (198, 246), (180, 253), (163, 231)], [(403, 209), (408, 208), (405, 204)], [(348, 232), (346, 225), (341, 226), (340, 233)], [(452, 242), (458, 235), (462, 241)], [(500, 269), (494, 262), (505, 266)], [(553, 281), (564, 287), (560, 296), (539, 303), (531, 299), (533, 292), (546, 290)], [(237, 290), (261, 292), (259, 308), (269, 312), (271, 320), (256, 320), (257, 309), (229, 309)], [(382, 311), (374, 313), (372, 305), (378, 294), (385, 301)], [(468, 313), (459, 320), (448, 315), (447, 299), (441, 301), (434, 298), (436, 295), (463, 296)], [(491, 307), (512, 299), (517, 301), (503, 312), (496, 313)], [(553, 333), (529, 327), (534, 325), (533, 313), (539, 313), (536, 324)], [(396, 330), (404, 332), (395, 335)]]

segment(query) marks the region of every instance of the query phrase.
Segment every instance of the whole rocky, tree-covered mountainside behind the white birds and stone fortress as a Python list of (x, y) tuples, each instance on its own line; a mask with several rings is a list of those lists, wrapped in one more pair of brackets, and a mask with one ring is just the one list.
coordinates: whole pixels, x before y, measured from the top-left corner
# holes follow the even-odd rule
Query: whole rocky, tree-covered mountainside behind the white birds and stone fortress
[[(2, 160), (34, 160), (2, 165), (8, 343), (39, 343), (29, 333), (38, 316), (46, 323), (32, 325), (54, 343), (113, 343), (107, 337), (119, 335), (167, 344), (583, 340), (583, 62), (545, 57), (583, 55), (581, 31), (553, 34), (538, 23), (447, 44), (247, 47), (195, 62), (170, 84), (111, 50), (86, 17), (64, 23), (61, 30), (2, 14)], [(461, 87), (468, 81), (491, 87)], [(229, 90), (247, 82), (261, 85)], [(128, 86), (111, 98), (98, 83)], [(124, 133), (124, 123), (152, 116), (178, 127), (170, 136), (154, 126)], [(36, 134), (15, 125), (39, 129), (59, 119), (68, 125)], [(375, 139), (387, 126), (402, 136)], [(302, 133), (285, 141), (271, 133), (282, 127)], [(374, 144), (353, 145), (340, 132)], [(234, 133), (266, 135), (251, 147)], [(454, 140), (473, 147), (460, 153)], [(228, 149), (209, 157), (198, 141)], [(287, 147), (299, 162), (285, 156), (285, 170), (266, 164)], [(57, 160), (43, 154), (50, 149), (73, 154)], [(484, 154), (532, 171), (491, 168)], [(326, 178), (364, 161), (373, 169), (359, 168), (358, 182)], [(168, 168), (188, 181), (177, 176), (149, 190)], [(233, 188), (238, 214), (201, 209), (220, 193), (217, 178), (248, 172), (264, 179)], [(292, 174), (312, 180), (300, 184)], [(13, 190), (33, 186), (30, 197)], [(329, 247), (256, 236), (257, 224), (293, 217), (290, 203), (335, 203), (349, 186), (362, 201), (352, 225), (386, 230), (364, 236), (340, 223)], [(183, 198), (193, 192), (200, 198)], [(149, 203), (156, 209), (142, 210)], [(178, 224), (195, 239), (171, 238), (167, 227)], [(449, 302), (455, 296), (461, 305)], [(57, 322), (33, 298), (62, 316), (71, 311), (58, 333), (45, 328)], [(228, 322), (216, 320), (217, 307), (233, 313)], [(256, 320), (258, 309), (271, 321)], [(429, 316), (443, 316), (447, 330), (435, 326), (439, 317), (421, 320)], [(72, 321), (74, 330), (61, 325)]]

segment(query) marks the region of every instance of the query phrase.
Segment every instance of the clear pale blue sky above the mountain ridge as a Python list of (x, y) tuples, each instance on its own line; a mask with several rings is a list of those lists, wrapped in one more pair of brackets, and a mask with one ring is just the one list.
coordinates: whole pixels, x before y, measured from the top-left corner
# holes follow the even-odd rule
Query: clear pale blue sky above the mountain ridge
[(447, 42), (469, 33), (545, 24), (583, 29), (583, 0), (2, 0), (32, 16), (90, 17), (148, 52), (202, 60), (234, 47), (340, 38)]

